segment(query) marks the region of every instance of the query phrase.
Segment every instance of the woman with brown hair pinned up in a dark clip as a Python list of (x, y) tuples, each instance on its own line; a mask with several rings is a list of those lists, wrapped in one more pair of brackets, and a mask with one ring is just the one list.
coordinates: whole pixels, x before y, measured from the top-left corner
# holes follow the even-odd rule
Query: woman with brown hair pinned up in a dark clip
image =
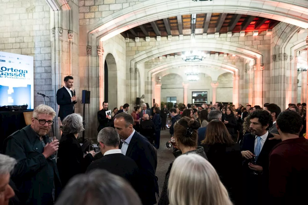
[[(200, 127), (200, 123), (196, 120), (192, 120), (188, 117), (182, 117), (174, 124), (174, 136), (176, 149), (173, 151), (173, 155), (178, 157), (182, 154), (197, 154), (201, 157), (207, 159), (206, 154), (204, 152), (204, 148), (201, 146), (197, 147), (198, 143), (198, 128)], [(172, 162), (173, 163), (173, 162)], [(168, 195), (167, 195), (167, 187), (168, 180), (170, 176), (170, 170), (172, 168), (172, 163), (168, 168), (168, 171), (165, 176), (163, 190), (161, 192), (161, 196), (158, 202), (158, 205), (168, 205)]]

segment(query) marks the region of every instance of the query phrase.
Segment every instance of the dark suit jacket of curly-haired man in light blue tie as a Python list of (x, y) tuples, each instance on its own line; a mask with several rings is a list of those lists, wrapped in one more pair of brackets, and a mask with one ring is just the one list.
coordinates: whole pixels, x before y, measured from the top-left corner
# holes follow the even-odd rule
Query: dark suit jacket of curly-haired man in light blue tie
[[(281, 140), (269, 140), (269, 138), (272, 137), (274, 136), (269, 133), (257, 159), (257, 165), (263, 167), (262, 174), (252, 175), (252, 170), (248, 167), (248, 163), (251, 160), (243, 158), (243, 192), (244, 202), (246, 201), (246, 203), (247, 200), (250, 199), (251, 204), (264, 204), (267, 203), (267, 199), (269, 198), (269, 155), (273, 147), (281, 142)], [(251, 133), (244, 135), (241, 143), (241, 151), (249, 150), (254, 153), (254, 141), (255, 136), (253, 136)], [(251, 189), (247, 189), (247, 186), (254, 187), (255, 190), (258, 190), (258, 197), (254, 197), (256, 200), (251, 200), (251, 197), (255, 196), (256, 192), (251, 191)]]

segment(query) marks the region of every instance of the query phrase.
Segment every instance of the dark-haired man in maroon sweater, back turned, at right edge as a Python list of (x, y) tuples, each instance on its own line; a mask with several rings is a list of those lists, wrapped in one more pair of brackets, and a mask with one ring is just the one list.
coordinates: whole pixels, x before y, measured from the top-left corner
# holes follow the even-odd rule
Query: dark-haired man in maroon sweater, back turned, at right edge
[(282, 142), (270, 153), (271, 204), (307, 204), (308, 140), (298, 137), (302, 118), (295, 111), (283, 111), (276, 126)]

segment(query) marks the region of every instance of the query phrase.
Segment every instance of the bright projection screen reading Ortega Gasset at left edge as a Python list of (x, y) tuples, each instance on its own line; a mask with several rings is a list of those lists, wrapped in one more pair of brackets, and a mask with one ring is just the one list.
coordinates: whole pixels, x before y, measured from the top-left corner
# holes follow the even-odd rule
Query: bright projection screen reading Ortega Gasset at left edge
[(33, 57), (0, 51), (0, 106), (34, 109)]

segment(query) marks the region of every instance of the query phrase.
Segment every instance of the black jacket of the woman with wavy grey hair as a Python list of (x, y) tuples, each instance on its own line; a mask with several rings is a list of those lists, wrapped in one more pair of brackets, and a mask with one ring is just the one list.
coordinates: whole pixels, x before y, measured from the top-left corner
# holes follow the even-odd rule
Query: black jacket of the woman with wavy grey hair
[(62, 135), (58, 150), (57, 166), (63, 187), (75, 175), (84, 173), (93, 161), (93, 156), (83, 151), (74, 134)]

